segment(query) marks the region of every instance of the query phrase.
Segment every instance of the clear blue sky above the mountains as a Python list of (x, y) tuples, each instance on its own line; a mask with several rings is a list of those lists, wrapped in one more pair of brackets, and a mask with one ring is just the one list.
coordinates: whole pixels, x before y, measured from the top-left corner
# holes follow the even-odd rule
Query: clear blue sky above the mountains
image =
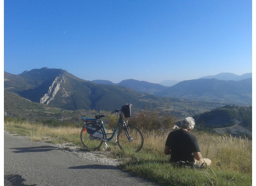
[(159, 83), (252, 72), (252, 1), (4, 1), (4, 71)]

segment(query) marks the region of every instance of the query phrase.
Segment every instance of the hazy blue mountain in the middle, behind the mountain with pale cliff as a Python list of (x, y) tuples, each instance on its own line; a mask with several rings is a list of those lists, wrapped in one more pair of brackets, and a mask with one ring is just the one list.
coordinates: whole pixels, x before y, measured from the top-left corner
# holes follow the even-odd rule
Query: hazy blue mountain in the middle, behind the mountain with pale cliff
[(135, 79), (122, 80), (120, 83), (117, 83), (117, 85), (122, 85), (125, 87), (129, 87), (131, 89), (134, 89), (136, 91), (149, 93), (149, 94), (155, 94), (156, 92), (159, 92), (160, 90), (164, 90), (165, 88), (167, 88), (160, 84), (149, 83), (149, 82), (139, 81)]

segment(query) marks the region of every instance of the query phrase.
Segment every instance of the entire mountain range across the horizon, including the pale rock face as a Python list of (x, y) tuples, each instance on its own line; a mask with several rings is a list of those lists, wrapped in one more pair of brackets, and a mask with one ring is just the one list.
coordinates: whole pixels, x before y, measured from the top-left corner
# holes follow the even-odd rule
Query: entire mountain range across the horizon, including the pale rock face
[[(245, 78), (246, 75), (241, 77)], [(41, 68), (24, 71), (18, 75), (4, 72), (4, 90), (15, 92), (32, 102), (64, 109), (108, 110), (116, 109), (116, 106), (125, 103), (134, 103), (137, 108), (152, 104), (156, 107), (157, 102), (154, 100), (161, 97), (165, 101), (170, 98), (182, 98), (241, 106), (252, 105), (252, 78), (237, 81), (193, 79), (165, 87), (135, 79), (122, 80), (117, 84), (108, 80), (88, 81), (62, 69)]]

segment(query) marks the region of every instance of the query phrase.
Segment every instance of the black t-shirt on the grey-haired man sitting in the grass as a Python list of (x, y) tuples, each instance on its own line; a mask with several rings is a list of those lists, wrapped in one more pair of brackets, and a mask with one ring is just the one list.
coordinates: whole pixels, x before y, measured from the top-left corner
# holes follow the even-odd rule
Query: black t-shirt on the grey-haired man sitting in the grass
[(196, 136), (188, 131), (179, 129), (170, 132), (165, 146), (170, 147), (170, 161), (194, 161), (193, 152), (201, 152)]

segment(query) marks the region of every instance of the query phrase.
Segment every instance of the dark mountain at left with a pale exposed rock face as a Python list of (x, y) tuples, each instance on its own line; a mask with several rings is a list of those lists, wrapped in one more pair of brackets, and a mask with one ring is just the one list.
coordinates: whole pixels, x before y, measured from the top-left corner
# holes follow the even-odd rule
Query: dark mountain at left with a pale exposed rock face
[(51, 107), (111, 110), (132, 103), (136, 108), (154, 106), (152, 95), (118, 85), (103, 85), (79, 79), (62, 69), (33, 69), (13, 75), (4, 72), (4, 89)]

